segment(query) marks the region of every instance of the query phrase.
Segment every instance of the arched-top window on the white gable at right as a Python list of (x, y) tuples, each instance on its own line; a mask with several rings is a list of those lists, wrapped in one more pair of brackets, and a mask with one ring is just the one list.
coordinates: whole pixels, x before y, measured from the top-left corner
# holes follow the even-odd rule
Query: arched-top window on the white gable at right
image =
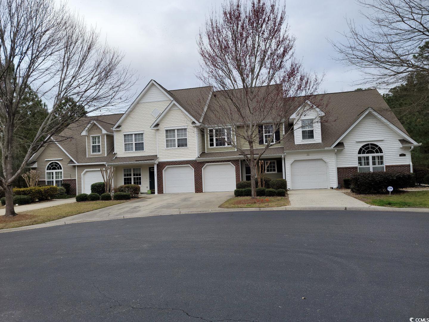
[(357, 152), (357, 170), (359, 172), (384, 171), (384, 154), (380, 146), (366, 143)]

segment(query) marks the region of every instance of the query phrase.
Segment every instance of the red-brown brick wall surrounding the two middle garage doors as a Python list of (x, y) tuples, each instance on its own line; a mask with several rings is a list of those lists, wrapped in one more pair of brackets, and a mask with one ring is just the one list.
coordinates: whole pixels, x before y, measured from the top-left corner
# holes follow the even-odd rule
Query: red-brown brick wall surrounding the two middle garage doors
[(163, 189), (163, 170), (167, 165), (180, 165), (180, 164), (189, 164), (194, 169), (194, 180), (195, 180), (195, 192), (202, 192), (202, 167), (208, 163), (223, 163), (231, 162), (236, 167), (236, 182), (241, 181), (240, 174), (240, 161), (239, 160), (224, 160), (224, 161), (168, 161), (168, 162), (159, 162), (157, 164), (157, 183), (158, 183), (158, 193), (162, 194)]

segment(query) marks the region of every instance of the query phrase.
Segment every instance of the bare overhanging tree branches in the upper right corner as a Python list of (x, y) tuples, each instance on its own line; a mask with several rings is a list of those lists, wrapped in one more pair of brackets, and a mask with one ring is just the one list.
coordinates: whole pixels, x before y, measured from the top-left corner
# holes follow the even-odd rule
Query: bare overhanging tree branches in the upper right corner
[[(359, 84), (391, 88), (405, 83), (410, 73), (429, 79), (429, 1), (358, 0), (366, 26), (348, 20), (344, 43), (330, 40), (339, 62), (357, 67), (364, 75)], [(426, 43), (426, 47), (425, 46)], [(424, 52), (421, 52), (423, 47)], [(427, 88), (426, 88), (427, 89)]]

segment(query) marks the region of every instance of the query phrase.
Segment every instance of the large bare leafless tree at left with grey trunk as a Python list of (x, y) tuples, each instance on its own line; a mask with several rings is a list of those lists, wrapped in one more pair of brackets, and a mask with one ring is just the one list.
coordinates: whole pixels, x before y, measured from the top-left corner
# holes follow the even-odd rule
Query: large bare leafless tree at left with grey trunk
[[(100, 33), (54, 0), (0, 1), (0, 186), (6, 215), (15, 216), (12, 182), (33, 153), (85, 113), (128, 99), (134, 73), (124, 55), (100, 42)], [(49, 111), (17, 171), (12, 170), (15, 132), (30, 113), (19, 106), (31, 88)], [(71, 103), (73, 102), (73, 103)], [(83, 109), (82, 109), (83, 107)]]

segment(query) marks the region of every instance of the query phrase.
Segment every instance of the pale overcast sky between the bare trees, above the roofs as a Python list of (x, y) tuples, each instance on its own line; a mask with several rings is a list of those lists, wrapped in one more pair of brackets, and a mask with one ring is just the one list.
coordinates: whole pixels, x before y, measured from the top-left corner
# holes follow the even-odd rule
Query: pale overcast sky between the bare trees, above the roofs
[[(281, 0), (283, 1), (283, 0)], [(359, 79), (333, 61), (336, 53), (326, 38), (341, 40), (338, 31), (347, 28), (345, 17), (360, 21), (353, 0), (284, 0), (291, 32), (296, 36), (296, 54), (306, 70), (326, 73), (320, 91), (349, 91)], [(199, 85), (196, 35), (218, 0), (69, 0), (71, 9), (97, 25), (111, 46), (126, 53), (141, 80), (141, 91), (150, 79), (167, 89)], [(362, 21), (363, 22), (363, 21)]]

